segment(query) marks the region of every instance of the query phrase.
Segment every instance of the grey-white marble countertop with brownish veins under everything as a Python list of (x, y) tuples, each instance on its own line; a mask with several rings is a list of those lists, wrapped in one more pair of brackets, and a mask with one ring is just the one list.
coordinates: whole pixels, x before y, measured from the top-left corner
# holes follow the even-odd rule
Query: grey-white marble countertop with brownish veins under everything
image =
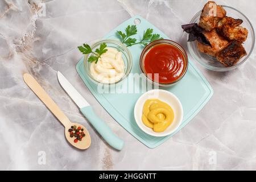
[[(133, 15), (141, 15), (186, 47), (180, 28), (207, 1), (28, 0), (0, 1), (0, 169), (99, 170), (256, 169), (256, 53), (232, 72), (212, 72), (193, 61), (214, 89), (207, 105), (174, 137), (150, 149), (101, 107), (75, 66), (77, 46), (100, 39)], [(256, 1), (216, 1), (241, 10), (255, 27)], [(61, 71), (100, 117), (125, 140), (110, 148), (61, 89)], [(67, 144), (63, 126), (23, 82), (29, 72), (72, 121), (92, 137), (86, 151)], [(54, 137), (53, 137), (54, 136)]]

